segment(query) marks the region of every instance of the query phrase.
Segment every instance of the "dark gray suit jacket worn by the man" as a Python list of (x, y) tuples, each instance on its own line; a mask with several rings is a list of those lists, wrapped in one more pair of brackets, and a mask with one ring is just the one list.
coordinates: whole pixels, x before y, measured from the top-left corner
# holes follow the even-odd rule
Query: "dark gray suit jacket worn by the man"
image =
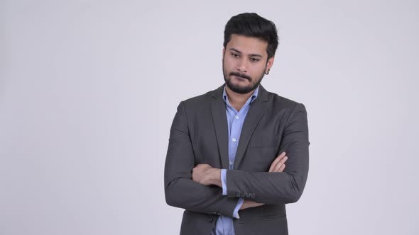
[[(207, 234), (219, 214), (232, 217), (239, 197), (264, 203), (240, 210), (237, 235), (288, 234), (285, 204), (298, 201), (308, 176), (308, 121), (305, 106), (259, 86), (244, 120), (234, 170), (227, 170), (227, 196), (222, 188), (191, 180), (197, 164), (229, 168), (224, 85), (178, 106), (170, 128), (165, 161), (165, 199), (184, 208), (180, 234)], [(285, 151), (285, 170), (268, 173)]]

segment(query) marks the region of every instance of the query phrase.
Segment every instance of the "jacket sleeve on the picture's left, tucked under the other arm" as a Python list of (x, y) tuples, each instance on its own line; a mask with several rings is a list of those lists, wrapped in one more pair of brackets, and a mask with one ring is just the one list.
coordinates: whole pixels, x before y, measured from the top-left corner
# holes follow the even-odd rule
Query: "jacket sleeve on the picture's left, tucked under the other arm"
[(222, 188), (205, 186), (192, 180), (195, 158), (190, 140), (184, 102), (170, 128), (165, 160), (165, 200), (168, 205), (206, 214), (232, 217), (238, 198), (222, 195)]

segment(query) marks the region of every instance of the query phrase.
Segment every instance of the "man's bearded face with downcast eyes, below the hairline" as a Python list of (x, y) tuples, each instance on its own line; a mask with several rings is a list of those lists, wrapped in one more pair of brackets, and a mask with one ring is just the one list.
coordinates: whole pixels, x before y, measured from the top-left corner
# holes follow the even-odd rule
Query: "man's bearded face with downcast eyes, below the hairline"
[(227, 87), (236, 93), (254, 91), (263, 75), (271, 69), (273, 57), (268, 59), (268, 42), (259, 38), (232, 34), (223, 49), (222, 69)]

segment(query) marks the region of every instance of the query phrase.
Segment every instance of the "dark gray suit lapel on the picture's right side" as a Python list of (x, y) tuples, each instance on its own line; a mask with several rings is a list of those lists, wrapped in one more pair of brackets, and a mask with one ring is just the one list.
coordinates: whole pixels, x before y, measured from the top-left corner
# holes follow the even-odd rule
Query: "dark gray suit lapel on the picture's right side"
[(249, 145), (249, 140), (253, 134), (256, 125), (265, 113), (266, 102), (268, 100), (268, 93), (262, 85), (259, 86), (259, 95), (254, 102), (251, 103), (249, 113), (246, 115), (243, 127), (241, 128), (239, 146), (236, 151), (236, 158), (234, 159), (234, 169), (237, 169), (241, 159), (243, 159), (244, 152)]

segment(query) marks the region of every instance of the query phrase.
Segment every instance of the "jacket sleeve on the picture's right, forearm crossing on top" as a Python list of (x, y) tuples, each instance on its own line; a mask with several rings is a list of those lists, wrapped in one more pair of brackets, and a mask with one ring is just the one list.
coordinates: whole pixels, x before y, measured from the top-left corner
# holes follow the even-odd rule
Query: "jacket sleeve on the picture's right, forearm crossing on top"
[(285, 124), (280, 149), (286, 152), (283, 172), (227, 171), (227, 196), (264, 204), (297, 202), (308, 176), (308, 120), (303, 104), (293, 108)]

